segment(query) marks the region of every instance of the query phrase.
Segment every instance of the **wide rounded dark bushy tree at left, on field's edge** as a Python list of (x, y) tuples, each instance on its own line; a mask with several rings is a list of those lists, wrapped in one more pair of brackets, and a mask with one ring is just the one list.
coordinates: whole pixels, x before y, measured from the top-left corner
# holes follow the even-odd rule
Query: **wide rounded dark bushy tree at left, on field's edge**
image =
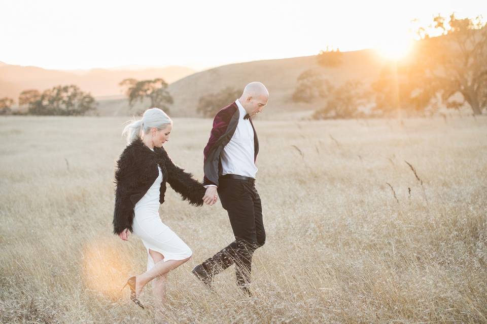
[(40, 98), (29, 103), (29, 114), (79, 116), (96, 110), (96, 101), (77, 86), (57, 86), (45, 90)]

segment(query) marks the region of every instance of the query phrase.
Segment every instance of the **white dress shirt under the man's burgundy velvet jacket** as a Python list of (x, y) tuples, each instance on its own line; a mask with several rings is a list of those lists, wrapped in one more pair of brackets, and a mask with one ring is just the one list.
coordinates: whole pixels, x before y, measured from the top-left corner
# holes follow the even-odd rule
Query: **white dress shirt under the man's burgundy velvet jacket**
[(254, 161), (254, 130), (249, 119), (243, 119), (247, 111), (235, 100), (240, 116), (237, 128), (221, 155), (222, 175), (236, 174), (255, 179), (257, 167)]

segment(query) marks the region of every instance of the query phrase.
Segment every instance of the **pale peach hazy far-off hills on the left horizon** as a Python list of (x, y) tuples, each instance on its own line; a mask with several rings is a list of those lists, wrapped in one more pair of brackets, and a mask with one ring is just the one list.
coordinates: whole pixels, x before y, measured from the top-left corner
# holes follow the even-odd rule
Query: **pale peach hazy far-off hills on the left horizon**
[(40, 91), (57, 85), (75, 84), (95, 97), (121, 95), (118, 83), (124, 78), (162, 77), (167, 83), (194, 73), (183, 66), (146, 69), (91, 69), (87, 71), (47, 70), (34, 66), (8, 65), (0, 62), (0, 97), (17, 100), (27, 89)]

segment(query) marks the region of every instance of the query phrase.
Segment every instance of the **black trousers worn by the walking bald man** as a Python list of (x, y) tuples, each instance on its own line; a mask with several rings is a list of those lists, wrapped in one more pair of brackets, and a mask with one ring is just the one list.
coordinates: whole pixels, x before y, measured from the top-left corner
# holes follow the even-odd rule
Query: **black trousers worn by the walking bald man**
[(253, 182), (220, 177), (218, 195), (235, 240), (202, 263), (212, 276), (235, 264), (237, 285), (248, 291), (254, 251), (265, 243), (262, 204)]

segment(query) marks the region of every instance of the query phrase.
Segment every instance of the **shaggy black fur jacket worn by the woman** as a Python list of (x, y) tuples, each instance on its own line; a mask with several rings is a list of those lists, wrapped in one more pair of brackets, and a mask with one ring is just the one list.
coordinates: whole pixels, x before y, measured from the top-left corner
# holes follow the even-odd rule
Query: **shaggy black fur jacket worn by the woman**
[(205, 189), (201, 183), (193, 179), (192, 174), (172, 163), (164, 148), (154, 147), (152, 151), (137, 139), (127, 145), (117, 161), (115, 171), (115, 211), (113, 213), (113, 232), (121, 233), (125, 228), (131, 232), (134, 217), (133, 208), (152, 186), (159, 171), (162, 171), (162, 183), (159, 202), (164, 203), (166, 181), (183, 200), (191, 205), (203, 205)]

